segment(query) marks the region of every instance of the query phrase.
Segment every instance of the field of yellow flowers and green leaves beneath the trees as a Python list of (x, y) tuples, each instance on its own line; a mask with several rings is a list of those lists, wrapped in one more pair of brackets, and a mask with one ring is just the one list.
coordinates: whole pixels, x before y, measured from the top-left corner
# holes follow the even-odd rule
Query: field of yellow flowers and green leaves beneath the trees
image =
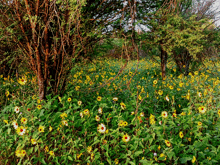
[[(137, 67), (138, 64), (138, 67)], [(72, 69), (63, 96), (36, 77), (0, 76), (2, 164), (218, 164), (220, 63), (188, 76), (168, 64), (96, 60)]]

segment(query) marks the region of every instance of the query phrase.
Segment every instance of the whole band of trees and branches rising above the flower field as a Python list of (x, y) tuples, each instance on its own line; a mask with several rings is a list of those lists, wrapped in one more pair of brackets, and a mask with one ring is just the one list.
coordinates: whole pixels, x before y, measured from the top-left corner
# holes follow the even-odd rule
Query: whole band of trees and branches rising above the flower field
[(214, 2), (0, 0), (0, 74), (31, 70), (40, 99), (64, 90), (76, 63), (103, 56), (152, 58), (161, 64), (163, 78), (173, 60), (188, 75), (218, 56)]

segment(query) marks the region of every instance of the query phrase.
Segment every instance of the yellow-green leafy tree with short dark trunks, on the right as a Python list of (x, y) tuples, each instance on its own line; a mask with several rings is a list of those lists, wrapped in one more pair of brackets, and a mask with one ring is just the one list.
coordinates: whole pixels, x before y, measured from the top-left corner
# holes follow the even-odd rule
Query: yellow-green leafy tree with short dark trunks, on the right
[[(207, 18), (197, 20), (196, 15), (182, 13), (181, 10), (184, 8), (182, 2), (176, 0), (165, 3), (164, 7), (150, 14), (147, 23), (150, 31), (145, 34), (144, 40), (148, 45), (157, 45), (160, 48), (163, 78), (166, 76), (168, 57), (176, 62), (180, 71), (185, 65), (186, 74), (190, 63), (203, 60), (205, 57), (201, 56), (201, 52), (209, 38), (206, 30), (209, 20)], [(190, 5), (186, 5), (183, 11), (190, 9)]]

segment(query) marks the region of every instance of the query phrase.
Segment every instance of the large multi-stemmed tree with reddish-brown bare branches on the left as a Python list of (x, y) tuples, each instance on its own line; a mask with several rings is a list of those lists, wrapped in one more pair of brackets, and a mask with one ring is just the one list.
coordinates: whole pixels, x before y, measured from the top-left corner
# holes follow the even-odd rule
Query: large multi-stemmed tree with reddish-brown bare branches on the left
[[(58, 93), (65, 86), (71, 58), (88, 51), (85, 45), (85, 23), (82, 7), (85, 1), (72, 0), (0, 0), (0, 20), (5, 31), (24, 52), (37, 75), (39, 97), (44, 99), (47, 87)], [(64, 74), (65, 73), (65, 74)]]

